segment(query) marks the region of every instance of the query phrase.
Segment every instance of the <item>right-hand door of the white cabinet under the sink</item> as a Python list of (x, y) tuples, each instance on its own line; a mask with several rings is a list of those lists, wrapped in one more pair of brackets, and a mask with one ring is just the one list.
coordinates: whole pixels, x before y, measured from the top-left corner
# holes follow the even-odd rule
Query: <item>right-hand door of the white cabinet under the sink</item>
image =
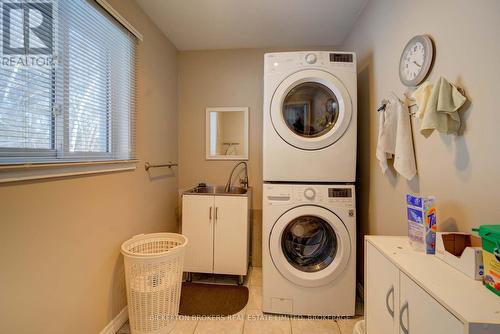
[(215, 196), (214, 273), (246, 275), (248, 199)]

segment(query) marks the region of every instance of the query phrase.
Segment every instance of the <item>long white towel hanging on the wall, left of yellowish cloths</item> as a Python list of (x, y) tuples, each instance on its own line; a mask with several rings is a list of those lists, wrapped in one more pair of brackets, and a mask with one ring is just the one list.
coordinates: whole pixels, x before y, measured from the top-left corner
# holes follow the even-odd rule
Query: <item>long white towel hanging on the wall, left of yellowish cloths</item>
[(387, 171), (387, 160), (394, 158), (394, 169), (411, 180), (417, 174), (417, 166), (408, 106), (397, 96), (391, 96), (385, 111), (379, 114), (376, 156), (382, 173)]

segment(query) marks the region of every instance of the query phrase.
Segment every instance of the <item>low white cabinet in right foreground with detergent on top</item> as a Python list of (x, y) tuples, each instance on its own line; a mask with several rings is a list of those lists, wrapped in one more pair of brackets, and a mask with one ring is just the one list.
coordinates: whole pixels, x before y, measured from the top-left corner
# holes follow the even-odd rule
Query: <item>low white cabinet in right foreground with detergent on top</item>
[(498, 334), (500, 299), (407, 238), (367, 236), (368, 334)]

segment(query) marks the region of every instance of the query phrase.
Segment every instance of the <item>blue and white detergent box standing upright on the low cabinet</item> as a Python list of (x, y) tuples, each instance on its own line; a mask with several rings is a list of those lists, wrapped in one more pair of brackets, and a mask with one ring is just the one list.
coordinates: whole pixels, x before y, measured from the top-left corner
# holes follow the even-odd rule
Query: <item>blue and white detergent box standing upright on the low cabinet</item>
[(436, 199), (433, 196), (406, 195), (408, 239), (413, 249), (436, 251)]

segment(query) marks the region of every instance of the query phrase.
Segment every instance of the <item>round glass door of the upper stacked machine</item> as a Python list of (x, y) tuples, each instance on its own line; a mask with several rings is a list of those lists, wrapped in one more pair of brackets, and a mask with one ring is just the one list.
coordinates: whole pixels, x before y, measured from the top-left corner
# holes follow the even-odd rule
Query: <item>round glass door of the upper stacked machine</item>
[(339, 140), (351, 122), (351, 97), (342, 82), (322, 70), (303, 70), (283, 80), (271, 101), (278, 135), (303, 150), (320, 150)]

